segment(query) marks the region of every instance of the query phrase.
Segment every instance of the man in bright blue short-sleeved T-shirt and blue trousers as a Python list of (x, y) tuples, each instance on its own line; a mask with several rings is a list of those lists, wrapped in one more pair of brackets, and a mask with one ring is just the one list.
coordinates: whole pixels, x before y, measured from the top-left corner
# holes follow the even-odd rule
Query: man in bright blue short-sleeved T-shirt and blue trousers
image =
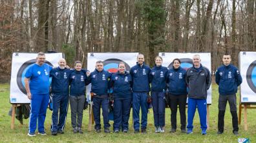
[[(38, 133), (45, 133), (45, 117), (49, 102), (50, 71), (52, 67), (45, 63), (45, 53), (37, 53), (36, 63), (32, 64), (25, 73), (25, 88), (28, 99), (31, 100), (30, 119), (28, 123), (28, 136), (36, 136)], [(38, 121), (38, 122), (37, 122)]]

